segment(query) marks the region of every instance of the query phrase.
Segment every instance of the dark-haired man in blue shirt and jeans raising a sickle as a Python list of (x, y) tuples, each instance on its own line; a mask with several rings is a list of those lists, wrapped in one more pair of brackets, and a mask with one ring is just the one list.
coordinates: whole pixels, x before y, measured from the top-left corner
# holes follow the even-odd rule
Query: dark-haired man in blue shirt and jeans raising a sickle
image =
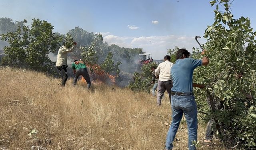
[[(202, 54), (204, 54), (202, 52)], [(204, 88), (202, 84), (192, 82), (193, 71), (198, 66), (209, 64), (208, 57), (202, 60), (189, 58), (190, 52), (182, 48), (176, 52), (176, 62), (171, 68), (172, 76), (172, 123), (166, 137), (166, 150), (173, 148), (173, 141), (180, 125), (182, 115), (186, 118), (188, 126), (188, 148), (196, 150), (192, 145), (192, 140), (197, 141), (197, 105), (193, 94), (193, 87)]]

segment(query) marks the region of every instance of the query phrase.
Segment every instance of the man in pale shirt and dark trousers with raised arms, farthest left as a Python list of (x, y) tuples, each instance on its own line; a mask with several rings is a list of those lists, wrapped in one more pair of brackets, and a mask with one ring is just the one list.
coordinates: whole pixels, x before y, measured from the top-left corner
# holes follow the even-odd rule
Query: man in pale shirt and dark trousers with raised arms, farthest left
[(60, 70), (61, 76), (62, 76), (62, 82), (61, 87), (64, 87), (66, 84), (66, 81), (68, 80), (68, 74), (67, 74), (67, 60), (68, 60), (68, 53), (73, 52), (73, 50), (76, 48), (76, 42), (73, 42), (73, 46), (71, 48), (65, 47), (66, 42), (63, 42), (63, 46), (60, 47), (57, 55), (57, 62), (56, 67), (58, 70)]

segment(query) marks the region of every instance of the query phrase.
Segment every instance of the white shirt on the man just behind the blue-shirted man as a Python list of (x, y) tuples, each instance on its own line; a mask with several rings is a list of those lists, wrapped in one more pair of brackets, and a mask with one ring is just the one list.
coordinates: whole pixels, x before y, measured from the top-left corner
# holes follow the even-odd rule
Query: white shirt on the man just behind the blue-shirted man
[(159, 76), (159, 81), (168, 81), (172, 80), (171, 78), (171, 68), (173, 66), (173, 63), (171, 63), (169, 60), (166, 60), (165, 62), (162, 62), (158, 65), (156, 68), (156, 76)]

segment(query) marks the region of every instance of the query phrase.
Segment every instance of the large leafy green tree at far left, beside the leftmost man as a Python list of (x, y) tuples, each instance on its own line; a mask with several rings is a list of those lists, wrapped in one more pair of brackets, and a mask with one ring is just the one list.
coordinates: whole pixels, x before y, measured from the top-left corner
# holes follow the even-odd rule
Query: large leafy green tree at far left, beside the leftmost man
[[(4, 47), (4, 63), (19, 67), (30, 67), (34, 70), (47, 70), (54, 62), (48, 54), (59, 48), (62, 40), (53, 34), (53, 26), (47, 21), (32, 19), (31, 28), (23, 25), (15, 32), (2, 34), (2, 40), (8, 41), (10, 46)], [(24, 20), (24, 24), (27, 21)]]

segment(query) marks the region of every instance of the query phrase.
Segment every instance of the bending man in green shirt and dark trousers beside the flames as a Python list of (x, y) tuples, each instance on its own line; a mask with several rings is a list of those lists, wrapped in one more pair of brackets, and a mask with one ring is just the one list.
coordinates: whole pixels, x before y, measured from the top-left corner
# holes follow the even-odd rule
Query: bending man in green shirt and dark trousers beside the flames
[(74, 62), (72, 64), (72, 68), (73, 68), (73, 72), (75, 74), (73, 85), (74, 86), (76, 85), (76, 81), (77, 81), (78, 77), (81, 75), (86, 80), (87, 89), (89, 89), (90, 86), (91, 86), (91, 80), (90, 80), (90, 76), (89, 76), (89, 74), (87, 72), (87, 67), (84, 64), (84, 62), (83, 61), (74, 60)]

